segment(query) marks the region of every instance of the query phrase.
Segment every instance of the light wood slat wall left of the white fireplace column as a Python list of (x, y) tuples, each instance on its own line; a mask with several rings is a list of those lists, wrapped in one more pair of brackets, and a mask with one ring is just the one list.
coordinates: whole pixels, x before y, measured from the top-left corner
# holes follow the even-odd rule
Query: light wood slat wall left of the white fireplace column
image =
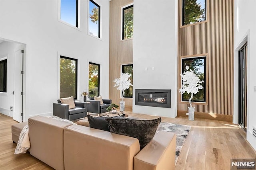
[[(109, 39), (109, 98), (112, 103), (120, 101), (120, 91), (114, 88), (113, 80), (120, 77), (120, 64), (128, 64), (133, 61), (133, 39), (121, 41), (121, 8), (133, 0), (110, 1), (110, 39)], [(124, 99), (126, 106), (132, 106), (132, 98)]]

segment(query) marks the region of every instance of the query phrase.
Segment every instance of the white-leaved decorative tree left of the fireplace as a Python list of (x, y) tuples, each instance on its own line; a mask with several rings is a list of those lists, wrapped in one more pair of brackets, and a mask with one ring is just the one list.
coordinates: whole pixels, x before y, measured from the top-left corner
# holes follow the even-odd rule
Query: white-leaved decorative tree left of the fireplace
[(117, 87), (117, 90), (121, 90), (122, 93), (122, 101), (124, 101), (124, 90), (128, 89), (131, 84), (131, 80), (129, 79), (132, 75), (129, 73), (122, 73), (120, 78), (116, 78), (114, 80), (114, 87)]

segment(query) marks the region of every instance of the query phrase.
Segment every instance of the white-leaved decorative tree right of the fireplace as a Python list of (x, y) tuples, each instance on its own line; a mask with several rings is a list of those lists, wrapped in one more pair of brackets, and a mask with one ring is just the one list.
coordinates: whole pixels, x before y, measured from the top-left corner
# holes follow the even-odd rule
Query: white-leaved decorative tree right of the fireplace
[(180, 74), (182, 78), (182, 86), (180, 88), (180, 94), (184, 94), (187, 92), (188, 94), (191, 93), (191, 97), (189, 98), (189, 104), (190, 107), (192, 107), (192, 98), (193, 94), (197, 94), (199, 89), (203, 89), (204, 87), (201, 86), (200, 84), (203, 83), (204, 81), (200, 81), (198, 76), (194, 73), (194, 70), (188, 71), (189, 67), (186, 66), (186, 70), (183, 74)]

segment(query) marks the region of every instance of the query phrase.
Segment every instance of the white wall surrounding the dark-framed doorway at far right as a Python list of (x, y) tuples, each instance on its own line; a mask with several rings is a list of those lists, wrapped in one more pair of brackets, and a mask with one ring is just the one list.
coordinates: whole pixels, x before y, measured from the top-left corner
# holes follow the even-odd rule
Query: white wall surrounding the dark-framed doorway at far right
[[(252, 136), (252, 126), (256, 126), (255, 102), (256, 93), (256, 11), (255, 0), (235, 0), (234, 5), (234, 117), (237, 117), (237, 63), (238, 50), (243, 45), (244, 39), (248, 41), (248, 66), (247, 66), (247, 140), (256, 150), (256, 137)], [(237, 118), (234, 119), (237, 122)]]

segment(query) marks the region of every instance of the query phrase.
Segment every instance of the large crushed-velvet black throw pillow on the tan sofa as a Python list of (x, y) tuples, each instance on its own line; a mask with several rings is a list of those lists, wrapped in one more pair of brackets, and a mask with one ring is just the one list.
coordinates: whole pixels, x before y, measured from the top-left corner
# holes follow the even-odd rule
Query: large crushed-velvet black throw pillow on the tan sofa
[(161, 117), (151, 120), (112, 117), (106, 118), (106, 121), (110, 132), (139, 139), (140, 149), (142, 149), (153, 139)]

